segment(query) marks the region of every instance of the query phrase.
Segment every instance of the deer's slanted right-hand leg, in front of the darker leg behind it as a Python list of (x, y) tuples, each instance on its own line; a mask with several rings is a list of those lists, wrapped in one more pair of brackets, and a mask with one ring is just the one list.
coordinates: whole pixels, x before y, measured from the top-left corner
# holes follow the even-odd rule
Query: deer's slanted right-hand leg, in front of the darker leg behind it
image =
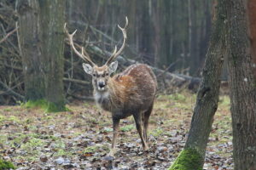
[(137, 127), (137, 133), (139, 133), (140, 138), (142, 139), (143, 150), (148, 150), (148, 144), (147, 144), (146, 140), (144, 139), (144, 135), (143, 135), (142, 113), (139, 112), (137, 114), (134, 114), (133, 117), (134, 117), (135, 124), (136, 124), (136, 127)]

